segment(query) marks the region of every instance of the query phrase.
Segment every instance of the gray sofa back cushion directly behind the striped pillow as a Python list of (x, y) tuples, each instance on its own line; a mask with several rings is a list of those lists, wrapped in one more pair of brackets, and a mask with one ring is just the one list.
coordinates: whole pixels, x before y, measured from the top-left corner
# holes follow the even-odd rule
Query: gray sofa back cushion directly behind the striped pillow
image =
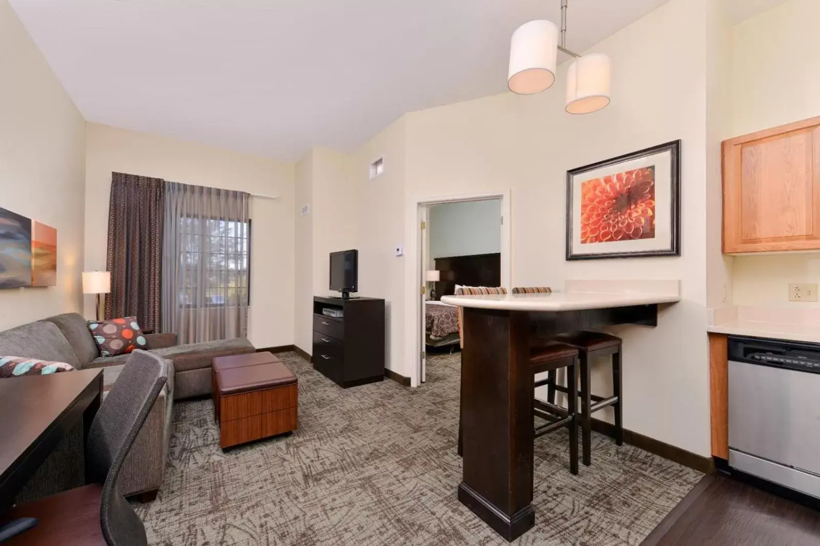
[(80, 359), (60, 328), (42, 320), (0, 332), (0, 354), (65, 362), (77, 369), (82, 368)]

